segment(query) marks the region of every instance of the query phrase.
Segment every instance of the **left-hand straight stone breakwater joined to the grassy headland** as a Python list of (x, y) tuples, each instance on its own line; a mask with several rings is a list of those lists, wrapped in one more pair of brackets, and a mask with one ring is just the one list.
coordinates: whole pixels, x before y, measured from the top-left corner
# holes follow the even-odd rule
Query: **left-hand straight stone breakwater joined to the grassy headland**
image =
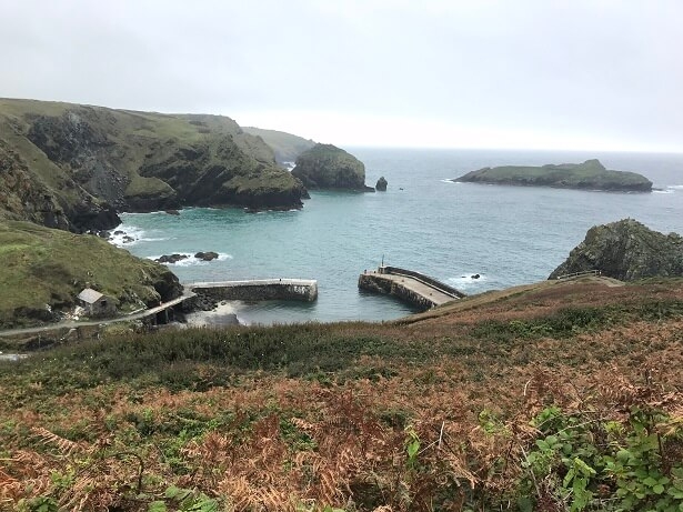
[(318, 281), (310, 279), (261, 279), (250, 281), (199, 282), (185, 284), (199, 299), (210, 300), (298, 300), (318, 299)]

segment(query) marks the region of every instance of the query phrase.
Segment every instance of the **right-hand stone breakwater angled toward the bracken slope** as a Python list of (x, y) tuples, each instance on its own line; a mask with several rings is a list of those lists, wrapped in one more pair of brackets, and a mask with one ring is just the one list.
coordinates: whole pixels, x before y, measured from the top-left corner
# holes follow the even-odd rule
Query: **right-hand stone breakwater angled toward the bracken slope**
[(363, 272), (358, 285), (362, 290), (393, 295), (425, 311), (465, 297), (434, 278), (399, 267), (380, 267), (376, 271)]

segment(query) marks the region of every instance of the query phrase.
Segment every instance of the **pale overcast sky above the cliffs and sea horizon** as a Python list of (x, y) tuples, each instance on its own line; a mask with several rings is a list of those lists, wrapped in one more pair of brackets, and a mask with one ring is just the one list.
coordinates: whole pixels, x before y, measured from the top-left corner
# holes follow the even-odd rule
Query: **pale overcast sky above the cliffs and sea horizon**
[(681, 0), (0, 0), (0, 97), (337, 145), (683, 152)]

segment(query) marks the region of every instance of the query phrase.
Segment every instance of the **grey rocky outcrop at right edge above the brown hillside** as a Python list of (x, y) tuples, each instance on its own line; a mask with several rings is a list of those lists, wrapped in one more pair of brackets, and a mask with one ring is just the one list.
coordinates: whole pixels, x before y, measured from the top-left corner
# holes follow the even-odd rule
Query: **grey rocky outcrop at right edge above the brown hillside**
[(548, 279), (586, 270), (622, 281), (681, 277), (683, 238), (652, 231), (633, 219), (596, 225)]

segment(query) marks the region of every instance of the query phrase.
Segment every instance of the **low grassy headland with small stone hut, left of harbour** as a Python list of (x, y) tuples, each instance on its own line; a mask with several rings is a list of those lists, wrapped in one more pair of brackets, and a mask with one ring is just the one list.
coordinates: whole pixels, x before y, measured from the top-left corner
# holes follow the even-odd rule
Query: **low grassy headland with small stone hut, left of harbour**
[(119, 311), (157, 305), (182, 292), (164, 265), (142, 260), (106, 240), (0, 222), (0, 328), (50, 322), (93, 288), (114, 299)]

